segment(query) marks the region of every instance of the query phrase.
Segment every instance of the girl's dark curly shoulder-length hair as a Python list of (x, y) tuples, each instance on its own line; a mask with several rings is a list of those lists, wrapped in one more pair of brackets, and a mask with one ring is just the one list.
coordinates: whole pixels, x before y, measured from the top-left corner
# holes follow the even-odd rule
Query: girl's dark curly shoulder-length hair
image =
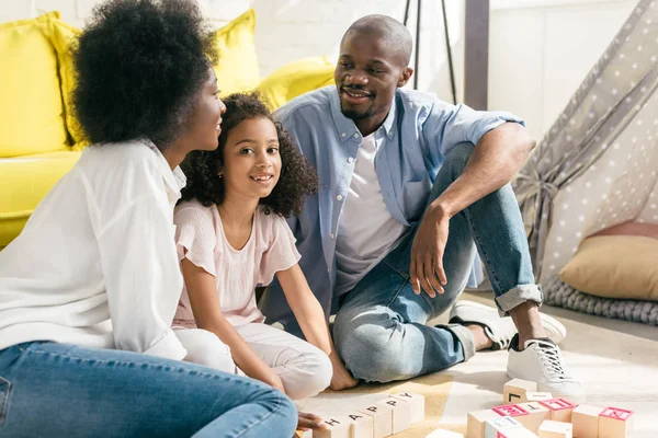
[(226, 114), (222, 122), (219, 147), (214, 151), (193, 151), (188, 154), (181, 169), (188, 177), (188, 185), (182, 191), (182, 200), (196, 199), (209, 207), (224, 201), (224, 181), (218, 171), (224, 168), (224, 148), (228, 132), (241, 122), (252, 118), (266, 118), (274, 123), (279, 137), (281, 155), (281, 175), (274, 189), (260, 205), (266, 206), (265, 212), (274, 211), (284, 218), (298, 215), (307, 196), (317, 193), (318, 177), (308, 165), (299, 150), (293, 145), (290, 136), (279, 122), (274, 122), (272, 113), (258, 92), (235, 93), (223, 99)]

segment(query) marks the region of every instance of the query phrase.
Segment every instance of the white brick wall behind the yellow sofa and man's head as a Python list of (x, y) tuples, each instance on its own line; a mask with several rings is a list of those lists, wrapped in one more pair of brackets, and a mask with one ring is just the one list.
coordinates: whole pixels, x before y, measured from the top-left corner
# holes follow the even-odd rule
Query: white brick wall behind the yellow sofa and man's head
[[(66, 22), (81, 27), (93, 5), (101, 1), (0, 0), (0, 23), (58, 10)], [(329, 55), (337, 58), (340, 38), (354, 20), (371, 13), (383, 13), (402, 21), (406, 4), (405, 0), (197, 1), (206, 16), (217, 27), (248, 8), (256, 9), (256, 46), (262, 76), (307, 56)], [(457, 90), (463, 89), (464, 1), (446, 2)], [(416, 1), (412, 1), (412, 5), (415, 4)], [(431, 90), (442, 99), (452, 100), (441, 0), (424, 0), (422, 8), (419, 89)], [(416, 35), (415, 23), (416, 10), (412, 7), (409, 27), (413, 35)]]

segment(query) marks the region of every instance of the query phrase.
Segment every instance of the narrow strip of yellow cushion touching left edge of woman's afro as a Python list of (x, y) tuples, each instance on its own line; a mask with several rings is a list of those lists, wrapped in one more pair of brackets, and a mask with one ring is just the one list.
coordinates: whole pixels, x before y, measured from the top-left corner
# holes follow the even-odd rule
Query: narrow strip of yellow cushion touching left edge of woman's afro
[(73, 116), (71, 94), (76, 87), (76, 69), (71, 54), (71, 43), (76, 42), (80, 30), (66, 24), (61, 20), (50, 20), (50, 37), (57, 60), (59, 61), (59, 78), (61, 85), (61, 97), (64, 100), (64, 113), (66, 115), (66, 127), (71, 136), (73, 150), (82, 150), (87, 142), (83, 141), (82, 128)]

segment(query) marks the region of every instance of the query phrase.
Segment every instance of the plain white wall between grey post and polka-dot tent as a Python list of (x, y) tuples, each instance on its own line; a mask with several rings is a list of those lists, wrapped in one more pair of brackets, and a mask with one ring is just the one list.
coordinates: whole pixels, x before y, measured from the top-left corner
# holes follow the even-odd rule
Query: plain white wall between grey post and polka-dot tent
[(491, 0), (489, 108), (540, 139), (637, 0)]

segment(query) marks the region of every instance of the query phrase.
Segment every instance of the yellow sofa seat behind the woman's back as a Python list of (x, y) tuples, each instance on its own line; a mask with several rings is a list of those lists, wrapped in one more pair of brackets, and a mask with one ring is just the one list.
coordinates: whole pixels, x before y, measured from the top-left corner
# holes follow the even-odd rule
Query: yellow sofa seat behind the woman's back
[(82, 152), (59, 151), (0, 159), (0, 246), (11, 242), (50, 188)]

